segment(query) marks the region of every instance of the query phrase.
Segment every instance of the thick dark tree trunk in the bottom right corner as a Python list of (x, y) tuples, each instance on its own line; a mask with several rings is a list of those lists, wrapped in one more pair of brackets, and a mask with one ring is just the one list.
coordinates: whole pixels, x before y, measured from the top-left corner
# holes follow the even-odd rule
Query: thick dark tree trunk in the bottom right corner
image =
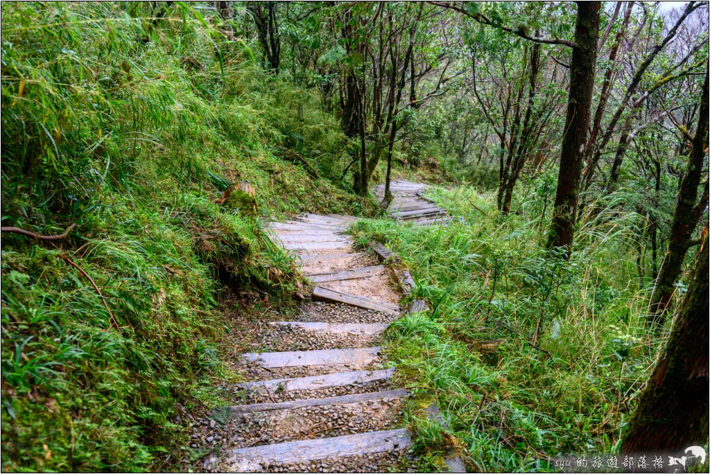
[(708, 270), (706, 236), (665, 353), (639, 396), (623, 454), (668, 453), (707, 442)]

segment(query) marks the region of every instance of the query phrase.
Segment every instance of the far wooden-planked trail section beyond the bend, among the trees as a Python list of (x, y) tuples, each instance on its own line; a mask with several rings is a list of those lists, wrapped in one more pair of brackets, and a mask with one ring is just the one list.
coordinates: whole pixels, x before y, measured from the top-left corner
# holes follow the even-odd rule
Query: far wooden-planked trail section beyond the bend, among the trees
[[(390, 183), (392, 202), (387, 213), (393, 219), (410, 221), (419, 226), (441, 224), (449, 221), (450, 216), (431, 199), (424, 197), (428, 184), (397, 180)], [(385, 185), (375, 188), (375, 194), (381, 201), (385, 197)]]

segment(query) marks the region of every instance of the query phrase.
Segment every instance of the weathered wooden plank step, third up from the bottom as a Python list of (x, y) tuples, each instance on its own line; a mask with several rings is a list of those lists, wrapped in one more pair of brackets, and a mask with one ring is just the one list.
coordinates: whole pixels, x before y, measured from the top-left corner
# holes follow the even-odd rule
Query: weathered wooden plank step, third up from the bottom
[(383, 370), (354, 370), (352, 372), (338, 372), (328, 375), (313, 375), (312, 377), (280, 378), (276, 380), (258, 380), (256, 382), (244, 382), (238, 387), (245, 389), (265, 387), (273, 392), (282, 387), (285, 392), (296, 390), (317, 390), (330, 387), (344, 387), (346, 385), (364, 385), (368, 382), (386, 380), (393, 377), (395, 368)]

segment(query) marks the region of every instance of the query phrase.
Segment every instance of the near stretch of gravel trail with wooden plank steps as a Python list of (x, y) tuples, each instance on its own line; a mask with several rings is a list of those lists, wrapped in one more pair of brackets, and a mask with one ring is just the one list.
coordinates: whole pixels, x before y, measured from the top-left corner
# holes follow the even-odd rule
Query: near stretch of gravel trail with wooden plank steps
[(403, 313), (392, 270), (356, 251), (351, 216), (305, 214), (268, 224), (315, 283), (293, 321), (268, 324), (265, 352), (241, 356), (248, 404), (229, 407), (229, 450), (206, 470), (377, 472), (412, 443), (400, 428), (408, 391), (393, 386), (378, 346)]

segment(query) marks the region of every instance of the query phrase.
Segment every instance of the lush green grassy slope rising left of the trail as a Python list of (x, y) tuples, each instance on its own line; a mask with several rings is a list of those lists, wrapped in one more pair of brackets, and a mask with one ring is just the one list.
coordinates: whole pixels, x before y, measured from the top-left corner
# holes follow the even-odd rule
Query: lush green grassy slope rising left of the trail
[(229, 379), (217, 276), (289, 299), (297, 275), (214, 204), (224, 180), (249, 181), (261, 216), (373, 210), (328, 179), (349, 141), (317, 99), (175, 8), (155, 28), (113, 4), (2, 6), (3, 225), (79, 224), (3, 234), (4, 470), (157, 468), (178, 404)]

